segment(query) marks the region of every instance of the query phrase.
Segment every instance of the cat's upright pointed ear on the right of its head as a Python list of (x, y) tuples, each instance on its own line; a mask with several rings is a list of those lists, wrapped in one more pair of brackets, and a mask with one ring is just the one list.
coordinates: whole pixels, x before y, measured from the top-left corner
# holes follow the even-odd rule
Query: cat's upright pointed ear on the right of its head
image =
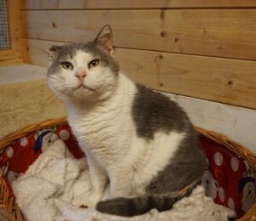
[(113, 52), (113, 31), (111, 26), (103, 26), (94, 42), (109, 54)]

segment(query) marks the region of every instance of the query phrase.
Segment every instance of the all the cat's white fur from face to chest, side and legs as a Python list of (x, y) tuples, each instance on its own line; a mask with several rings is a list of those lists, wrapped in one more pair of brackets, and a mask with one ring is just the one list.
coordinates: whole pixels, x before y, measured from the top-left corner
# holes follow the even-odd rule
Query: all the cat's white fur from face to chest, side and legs
[[(49, 83), (54, 90), (67, 88), (68, 122), (88, 159), (92, 186), (88, 198), (94, 200), (87, 205), (94, 207), (102, 199), (108, 178), (109, 197), (143, 194), (146, 185), (166, 167), (184, 134), (158, 132), (153, 140), (137, 137), (131, 116), (136, 85), (122, 73), (116, 77), (100, 65), (88, 70), (84, 64), (91, 59), (90, 54), (79, 52), (72, 60), (73, 71), (65, 70), (60, 80), (56, 75)], [(84, 85), (95, 91), (81, 88), (73, 92), (79, 85), (75, 71), (81, 68), (87, 73)]]

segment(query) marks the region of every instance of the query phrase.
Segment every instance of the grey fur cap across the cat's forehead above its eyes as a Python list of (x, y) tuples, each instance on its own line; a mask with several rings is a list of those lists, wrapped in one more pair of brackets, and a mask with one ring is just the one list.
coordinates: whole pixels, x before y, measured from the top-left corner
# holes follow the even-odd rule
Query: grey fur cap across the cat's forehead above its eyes
[(61, 62), (69, 61), (78, 51), (92, 54), (95, 59), (100, 59), (100, 65), (108, 66), (113, 74), (118, 75), (119, 65), (110, 54), (98, 47), (95, 42), (78, 42), (57, 47), (57, 56), (49, 66), (48, 76), (57, 74), (61, 71)]

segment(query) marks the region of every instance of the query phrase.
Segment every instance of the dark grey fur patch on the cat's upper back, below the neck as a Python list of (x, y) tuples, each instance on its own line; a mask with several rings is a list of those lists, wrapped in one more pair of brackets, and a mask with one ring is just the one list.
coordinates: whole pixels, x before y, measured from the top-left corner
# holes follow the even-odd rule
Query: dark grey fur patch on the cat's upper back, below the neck
[(177, 103), (139, 84), (131, 114), (137, 127), (137, 136), (145, 139), (154, 139), (157, 131), (183, 132), (191, 127), (188, 116)]

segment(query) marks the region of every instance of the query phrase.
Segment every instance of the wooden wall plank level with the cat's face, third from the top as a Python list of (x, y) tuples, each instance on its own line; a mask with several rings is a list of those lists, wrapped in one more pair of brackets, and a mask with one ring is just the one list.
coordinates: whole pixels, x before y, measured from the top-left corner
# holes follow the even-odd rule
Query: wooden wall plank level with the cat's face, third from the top
[[(31, 62), (47, 66), (49, 42), (28, 40)], [(117, 48), (121, 69), (136, 82), (174, 94), (256, 109), (256, 62)]]

